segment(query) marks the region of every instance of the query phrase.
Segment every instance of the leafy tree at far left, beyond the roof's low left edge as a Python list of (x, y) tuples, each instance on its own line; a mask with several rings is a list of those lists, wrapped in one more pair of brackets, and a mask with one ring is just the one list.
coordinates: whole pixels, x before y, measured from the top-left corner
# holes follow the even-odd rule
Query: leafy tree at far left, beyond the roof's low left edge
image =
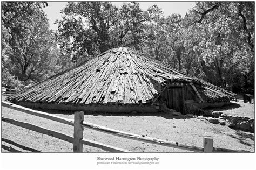
[(10, 74), (23, 81), (37, 82), (56, 72), (53, 67), (56, 61), (52, 58), (56, 37), (49, 30), (48, 19), (42, 11), (45, 5), (42, 2), (2, 3), (2, 23), (8, 30), (2, 39), (2, 52), (10, 59)]

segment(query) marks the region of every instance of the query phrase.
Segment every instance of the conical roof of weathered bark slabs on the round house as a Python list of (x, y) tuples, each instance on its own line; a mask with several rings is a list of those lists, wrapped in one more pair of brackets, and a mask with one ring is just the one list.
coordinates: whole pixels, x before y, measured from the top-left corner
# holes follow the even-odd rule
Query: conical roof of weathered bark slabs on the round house
[(19, 91), (8, 100), (78, 105), (151, 103), (170, 82), (199, 84), (199, 93), (206, 98), (234, 95), (131, 48), (120, 47)]

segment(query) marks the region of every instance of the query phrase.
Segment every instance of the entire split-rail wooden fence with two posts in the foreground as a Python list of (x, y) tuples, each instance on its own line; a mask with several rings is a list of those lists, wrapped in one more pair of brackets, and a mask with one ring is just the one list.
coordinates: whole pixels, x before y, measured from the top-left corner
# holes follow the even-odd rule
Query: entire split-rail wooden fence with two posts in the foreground
[(66, 134), (57, 132), (57, 131), (43, 128), (41, 126), (37, 126), (37, 125), (30, 124), (30, 123), (20, 122), (20, 121), (14, 120), (14, 119), (2, 117), (3, 122), (11, 123), (16, 126), (20, 126), (22, 128), (26, 128), (26, 129), (29, 129), (32, 131), (43, 133), (43, 134), (47, 134), (49, 136), (52, 136), (52, 137), (55, 137), (58, 139), (62, 139), (64, 141), (68, 141), (69, 143), (73, 143), (73, 152), (83, 152), (83, 145), (101, 148), (105, 151), (110, 151), (110, 152), (131, 152), (131, 151), (125, 150), (123, 148), (118, 148), (118, 147), (102, 144), (97, 141), (84, 139), (83, 138), (84, 128), (97, 130), (100, 132), (108, 133), (108, 134), (122, 137), (122, 138), (144, 141), (146, 143), (163, 145), (163, 146), (167, 146), (167, 147), (173, 147), (173, 148), (178, 148), (181, 150), (188, 150), (188, 151), (193, 151), (193, 152), (247, 152), (247, 151), (242, 151), (242, 150), (229, 150), (229, 149), (225, 149), (225, 148), (215, 148), (215, 147), (213, 147), (213, 138), (210, 136), (204, 136), (203, 137), (203, 147), (197, 147), (197, 146), (193, 146), (193, 145), (181, 144), (181, 143), (174, 142), (174, 141), (161, 140), (161, 139), (157, 139), (157, 138), (146, 137), (144, 135), (127, 133), (127, 132), (123, 132), (123, 131), (119, 131), (119, 130), (115, 130), (115, 129), (110, 129), (110, 128), (106, 128), (104, 126), (85, 122), (84, 121), (84, 112), (75, 112), (74, 120), (72, 120), (72, 119), (67, 119), (67, 118), (56, 116), (56, 115), (48, 114), (46, 112), (28, 109), (28, 108), (22, 107), (20, 105), (8, 103), (8, 102), (2, 102), (2, 106), (8, 107), (8, 108), (11, 108), (14, 110), (22, 111), (22, 112), (25, 112), (26, 114), (39, 116), (39, 117), (50, 119), (52, 121), (56, 121), (59, 123), (74, 126), (74, 133), (73, 133), (73, 137), (72, 137), (72, 136), (68, 136)]

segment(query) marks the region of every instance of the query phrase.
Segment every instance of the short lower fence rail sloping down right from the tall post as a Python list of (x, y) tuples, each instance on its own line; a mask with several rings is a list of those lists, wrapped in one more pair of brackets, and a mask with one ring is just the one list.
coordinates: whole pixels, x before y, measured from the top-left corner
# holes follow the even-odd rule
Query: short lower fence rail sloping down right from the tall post
[(123, 148), (118, 148), (118, 147), (102, 144), (97, 141), (92, 141), (92, 140), (88, 140), (88, 139), (82, 139), (82, 140), (80, 140), (80, 143), (82, 143), (84, 145), (92, 146), (92, 147), (101, 148), (102, 150), (109, 151), (109, 152), (131, 152), (131, 151), (125, 150)]

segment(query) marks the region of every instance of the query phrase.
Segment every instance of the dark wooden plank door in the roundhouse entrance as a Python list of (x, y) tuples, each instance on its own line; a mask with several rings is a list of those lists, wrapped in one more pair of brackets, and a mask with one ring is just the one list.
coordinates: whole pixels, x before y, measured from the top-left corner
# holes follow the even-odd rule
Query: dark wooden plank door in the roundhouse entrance
[(168, 89), (167, 107), (184, 114), (184, 92), (182, 87)]

